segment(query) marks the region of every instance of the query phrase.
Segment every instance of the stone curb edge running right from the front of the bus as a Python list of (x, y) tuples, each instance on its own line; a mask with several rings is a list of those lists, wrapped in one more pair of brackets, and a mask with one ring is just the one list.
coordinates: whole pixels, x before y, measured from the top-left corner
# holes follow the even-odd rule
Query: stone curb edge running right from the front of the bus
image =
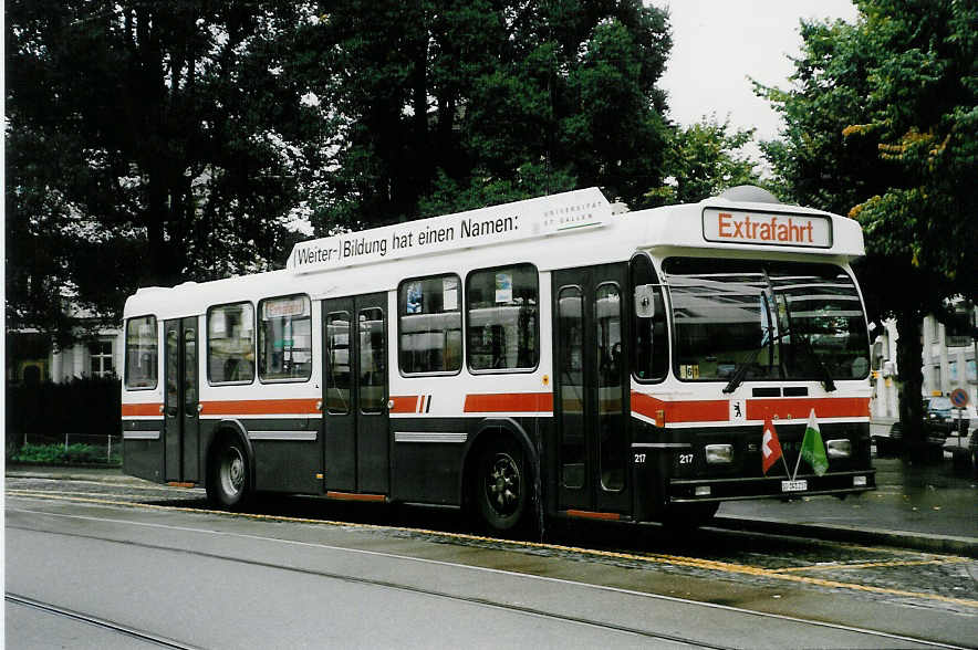
[(781, 520), (748, 518), (737, 515), (718, 515), (714, 517), (709, 525), (772, 535), (793, 535), (798, 537), (831, 539), (833, 542), (897, 546), (926, 553), (949, 553), (978, 558), (978, 539), (975, 537), (913, 531), (891, 531), (886, 528), (860, 528), (836, 524), (795, 524)]

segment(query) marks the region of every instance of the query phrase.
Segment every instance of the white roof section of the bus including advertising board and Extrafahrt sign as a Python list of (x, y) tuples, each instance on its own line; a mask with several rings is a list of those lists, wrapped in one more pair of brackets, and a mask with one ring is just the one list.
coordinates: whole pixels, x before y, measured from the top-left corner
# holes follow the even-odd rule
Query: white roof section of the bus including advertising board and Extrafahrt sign
[(587, 188), (301, 242), (284, 270), (142, 289), (126, 301), (125, 316), (177, 317), (290, 293), (319, 300), (388, 291), (408, 277), (519, 262), (540, 271), (585, 266), (638, 250), (847, 262), (864, 244), (857, 222), (810, 208), (717, 197), (616, 213), (601, 190)]

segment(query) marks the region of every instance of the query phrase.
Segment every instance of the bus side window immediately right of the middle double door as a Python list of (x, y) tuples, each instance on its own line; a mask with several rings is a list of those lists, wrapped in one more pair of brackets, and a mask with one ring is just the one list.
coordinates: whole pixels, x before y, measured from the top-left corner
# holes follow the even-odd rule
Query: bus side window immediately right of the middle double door
[(398, 359), (405, 375), (461, 369), (458, 275), (406, 280), (397, 291)]

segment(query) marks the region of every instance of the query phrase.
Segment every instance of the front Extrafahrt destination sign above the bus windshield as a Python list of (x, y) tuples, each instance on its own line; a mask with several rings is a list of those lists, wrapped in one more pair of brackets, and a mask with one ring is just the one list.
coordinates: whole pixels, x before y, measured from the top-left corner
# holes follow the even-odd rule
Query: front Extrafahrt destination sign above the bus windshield
[(707, 241), (828, 249), (832, 220), (815, 214), (741, 212), (706, 208), (703, 235)]

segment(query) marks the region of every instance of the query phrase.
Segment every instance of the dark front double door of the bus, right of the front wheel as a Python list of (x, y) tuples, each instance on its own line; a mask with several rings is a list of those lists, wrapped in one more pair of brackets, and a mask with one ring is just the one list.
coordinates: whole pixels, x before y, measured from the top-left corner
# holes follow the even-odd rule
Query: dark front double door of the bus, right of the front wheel
[(624, 264), (553, 273), (558, 509), (628, 514)]

